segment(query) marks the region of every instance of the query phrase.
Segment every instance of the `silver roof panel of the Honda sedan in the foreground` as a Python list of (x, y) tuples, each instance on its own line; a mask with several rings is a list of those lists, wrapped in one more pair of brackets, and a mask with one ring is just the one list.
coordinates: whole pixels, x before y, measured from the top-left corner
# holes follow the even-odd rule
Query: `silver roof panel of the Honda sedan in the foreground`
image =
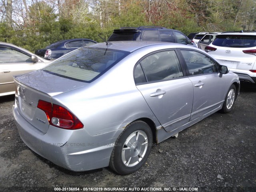
[(97, 43), (97, 44), (91, 45), (89, 47), (110, 48), (110, 49), (134, 52), (135, 50), (138, 50), (140, 48), (144, 48), (147, 46), (166, 45), (166, 44), (169, 45), (168, 48), (177, 48), (177, 47), (192, 48), (191, 46), (187, 46), (184, 44), (177, 44), (177, 43), (170, 43), (170, 42), (157, 42), (157, 41), (112, 41), (112, 42), (108, 42), (108, 45), (106, 45), (106, 42), (103, 42), (103, 43)]

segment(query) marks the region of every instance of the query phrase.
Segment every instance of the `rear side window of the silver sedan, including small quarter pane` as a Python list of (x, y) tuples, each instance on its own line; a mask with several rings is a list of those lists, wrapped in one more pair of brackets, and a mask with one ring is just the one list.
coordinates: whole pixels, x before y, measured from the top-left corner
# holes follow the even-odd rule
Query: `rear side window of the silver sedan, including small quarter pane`
[(144, 58), (135, 68), (135, 83), (171, 80), (182, 77), (180, 62), (174, 50), (158, 52)]

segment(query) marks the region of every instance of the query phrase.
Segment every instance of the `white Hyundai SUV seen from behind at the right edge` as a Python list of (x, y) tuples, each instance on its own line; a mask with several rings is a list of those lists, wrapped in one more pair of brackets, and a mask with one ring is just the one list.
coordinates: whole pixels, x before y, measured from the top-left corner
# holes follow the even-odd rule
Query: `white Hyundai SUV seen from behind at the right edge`
[(204, 50), (238, 74), (240, 80), (256, 83), (256, 31), (218, 34)]

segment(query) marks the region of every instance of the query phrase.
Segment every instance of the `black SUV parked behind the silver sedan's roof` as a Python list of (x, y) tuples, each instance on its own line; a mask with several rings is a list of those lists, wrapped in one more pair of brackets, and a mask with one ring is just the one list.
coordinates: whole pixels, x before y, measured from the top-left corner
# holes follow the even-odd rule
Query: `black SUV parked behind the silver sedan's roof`
[(178, 30), (154, 26), (115, 29), (108, 41), (163, 41), (196, 46), (186, 35)]

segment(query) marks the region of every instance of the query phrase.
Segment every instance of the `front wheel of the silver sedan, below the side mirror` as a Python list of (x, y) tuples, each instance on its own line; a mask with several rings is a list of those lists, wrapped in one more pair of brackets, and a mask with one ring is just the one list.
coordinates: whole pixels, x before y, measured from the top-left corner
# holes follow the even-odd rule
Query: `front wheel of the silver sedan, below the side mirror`
[(220, 112), (229, 113), (234, 107), (235, 100), (236, 100), (236, 86), (232, 84), (228, 90), (228, 93), (226, 95), (224, 104)]

